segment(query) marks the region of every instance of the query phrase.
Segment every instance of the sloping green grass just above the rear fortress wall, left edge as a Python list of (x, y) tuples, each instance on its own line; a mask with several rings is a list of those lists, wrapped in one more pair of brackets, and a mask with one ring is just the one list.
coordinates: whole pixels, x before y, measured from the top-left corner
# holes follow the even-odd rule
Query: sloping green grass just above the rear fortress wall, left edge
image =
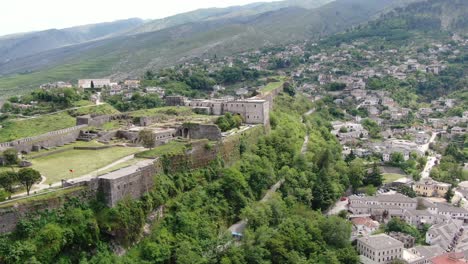
[(67, 113), (44, 115), (25, 120), (9, 120), (0, 128), (0, 142), (38, 136), (47, 132), (75, 126), (76, 120)]

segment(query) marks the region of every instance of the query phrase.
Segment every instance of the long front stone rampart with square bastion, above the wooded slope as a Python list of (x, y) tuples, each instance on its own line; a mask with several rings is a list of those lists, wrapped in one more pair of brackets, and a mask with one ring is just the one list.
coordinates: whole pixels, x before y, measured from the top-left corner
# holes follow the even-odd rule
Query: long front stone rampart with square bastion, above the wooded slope
[[(241, 155), (240, 146), (242, 142), (248, 148), (264, 132), (264, 127), (258, 125), (224, 138), (218, 143), (209, 140), (197, 140), (192, 143), (192, 147), (185, 154), (164, 157), (164, 159), (167, 159), (166, 161), (163, 158), (144, 160), (135, 165), (101, 175), (98, 178), (76, 182), (65, 181), (63, 182), (65, 189), (60, 189), (57, 192), (73, 190), (67, 192), (66, 195), (58, 193), (54, 198), (35, 200), (30, 203), (15, 204), (14, 201), (0, 203), (0, 233), (13, 231), (19, 219), (25, 217), (27, 213), (58, 208), (69, 197), (89, 200), (100, 196), (109, 207), (117, 205), (125, 197), (138, 199), (154, 187), (154, 176), (163, 172), (164, 162), (169, 162), (170, 164), (166, 165), (169, 165), (170, 168), (179, 168), (180, 170), (207, 166), (218, 157), (222, 158), (226, 164), (233, 164)], [(45, 196), (48, 194), (40, 195)], [(5, 203), (11, 203), (12, 205), (9, 207), (3, 206), (2, 208)]]

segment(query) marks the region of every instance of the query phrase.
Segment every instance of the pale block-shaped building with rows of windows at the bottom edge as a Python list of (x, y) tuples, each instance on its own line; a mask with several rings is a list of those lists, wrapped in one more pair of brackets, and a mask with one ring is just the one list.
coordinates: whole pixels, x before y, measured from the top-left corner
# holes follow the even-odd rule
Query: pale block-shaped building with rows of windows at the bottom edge
[(401, 259), (403, 243), (388, 235), (378, 234), (358, 238), (357, 250), (361, 258), (372, 263), (391, 263)]

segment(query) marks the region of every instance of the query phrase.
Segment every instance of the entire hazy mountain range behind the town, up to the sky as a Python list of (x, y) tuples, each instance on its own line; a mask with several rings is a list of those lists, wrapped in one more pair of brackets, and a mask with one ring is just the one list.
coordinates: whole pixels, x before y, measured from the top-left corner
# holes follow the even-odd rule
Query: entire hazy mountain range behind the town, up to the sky
[[(7, 36), (0, 38), (0, 91), (11, 94), (56, 80), (139, 77), (194, 57), (319, 39), (383, 13), (403, 12), (417, 1), (422, 0), (288, 0)], [(447, 16), (466, 1), (429, 2), (426, 10), (414, 11), (443, 20), (444, 29), (466, 23), (458, 9)]]

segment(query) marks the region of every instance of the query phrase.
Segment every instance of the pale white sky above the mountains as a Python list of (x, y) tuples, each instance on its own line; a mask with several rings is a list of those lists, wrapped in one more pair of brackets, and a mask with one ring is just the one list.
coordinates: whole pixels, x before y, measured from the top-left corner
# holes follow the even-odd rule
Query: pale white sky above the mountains
[[(269, 2), (272, 0), (263, 0)], [(131, 17), (163, 18), (207, 7), (243, 5), (259, 0), (4, 0), (0, 35), (66, 28)]]

